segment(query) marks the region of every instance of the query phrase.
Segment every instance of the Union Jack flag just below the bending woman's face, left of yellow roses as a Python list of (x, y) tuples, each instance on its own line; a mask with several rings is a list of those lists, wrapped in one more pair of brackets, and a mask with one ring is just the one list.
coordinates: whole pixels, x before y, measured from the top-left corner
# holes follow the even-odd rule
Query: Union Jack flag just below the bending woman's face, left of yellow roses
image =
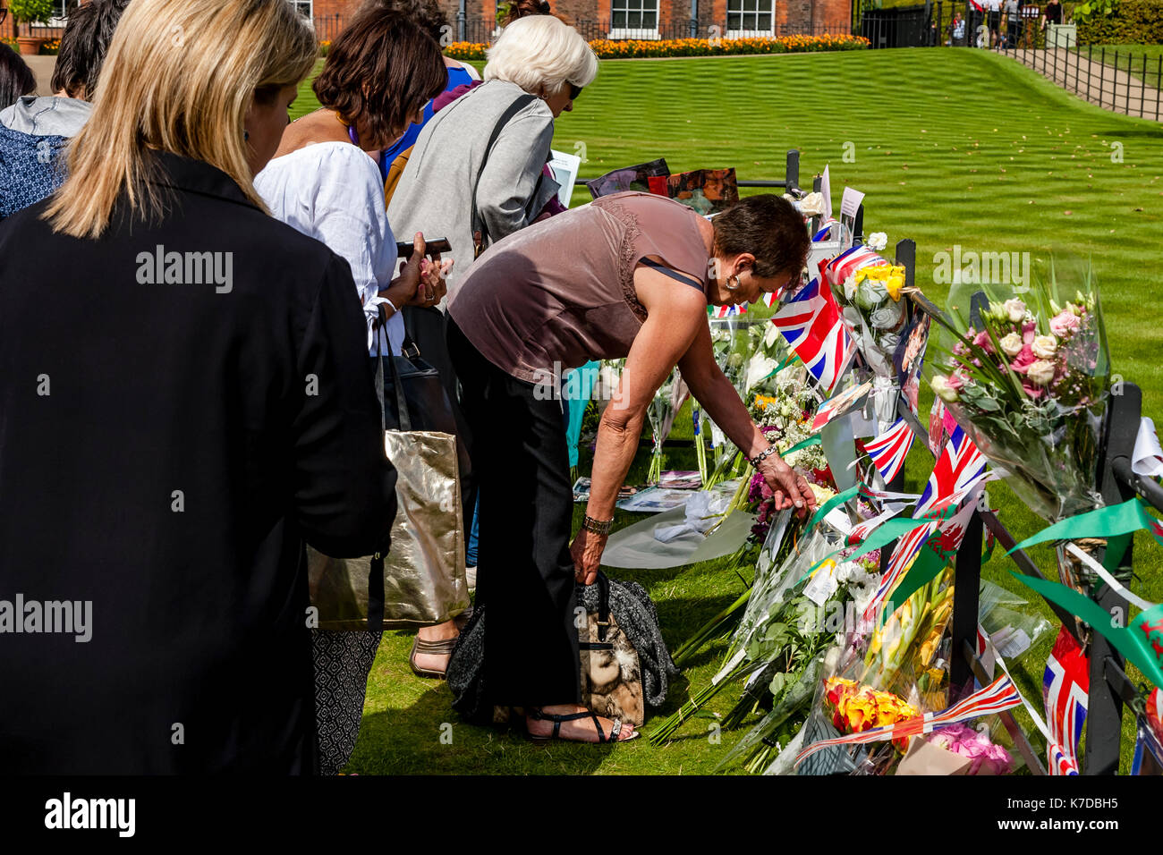
[(828, 283), (813, 279), (776, 313), (771, 322), (820, 386), (832, 392), (848, 368), (856, 344), (840, 321), (840, 309)]

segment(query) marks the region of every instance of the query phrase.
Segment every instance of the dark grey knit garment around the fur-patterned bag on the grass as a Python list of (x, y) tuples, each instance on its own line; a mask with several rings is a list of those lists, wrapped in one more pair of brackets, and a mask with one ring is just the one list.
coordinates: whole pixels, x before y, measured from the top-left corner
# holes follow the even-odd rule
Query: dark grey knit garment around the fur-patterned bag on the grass
[[(671, 678), (678, 675), (678, 668), (658, 628), (658, 612), (638, 583), (616, 579), (608, 579), (608, 583), (609, 611), (638, 655), (643, 698), (648, 706), (659, 707), (666, 700), (666, 690)], [(577, 599), (587, 612), (597, 612), (600, 586), (578, 585)], [(452, 690), (452, 708), (469, 721), (497, 720), (484, 685), (484, 639), (485, 606), (480, 605), (461, 630), (445, 672)]]

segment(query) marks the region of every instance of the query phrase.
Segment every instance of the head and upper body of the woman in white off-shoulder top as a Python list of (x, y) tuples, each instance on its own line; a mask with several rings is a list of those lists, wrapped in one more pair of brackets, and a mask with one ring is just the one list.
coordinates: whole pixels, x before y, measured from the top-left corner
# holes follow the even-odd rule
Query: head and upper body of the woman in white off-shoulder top
[[(357, 26), (357, 37), (349, 37), (343, 50), (333, 48), (314, 84), (323, 108), (287, 127), (274, 158), (255, 177), (255, 188), (277, 219), (347, 259), (368, 319), (369, 352), (399, 354), (400, 309), (440, 302), (451, 262), (424, 258), (416, 235), (416, 251), (392, 279), (395, 237), (377, 158), (407, 130), (431, 93), (443, 91), (447, 72), (438, 49), (433, 51), (428, 36), (401, 16), (369, 12), (351, 28)], [(376, 55), (420, 73), (406, 78), (406, 91), (392, 91), (397, 76), (377, 79), (371, 71)], [(381, 308), (388, 315), (384, 328)]]

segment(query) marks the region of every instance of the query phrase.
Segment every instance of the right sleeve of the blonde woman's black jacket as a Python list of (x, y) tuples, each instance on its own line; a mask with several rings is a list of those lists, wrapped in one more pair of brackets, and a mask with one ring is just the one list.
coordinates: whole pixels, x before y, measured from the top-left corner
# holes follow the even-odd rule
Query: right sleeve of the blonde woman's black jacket
[(366, 342), (351, 271), (334, 256), (299, 350), (294, 503), (304, 539), (336, 558), (386, 553), (395, 518)]

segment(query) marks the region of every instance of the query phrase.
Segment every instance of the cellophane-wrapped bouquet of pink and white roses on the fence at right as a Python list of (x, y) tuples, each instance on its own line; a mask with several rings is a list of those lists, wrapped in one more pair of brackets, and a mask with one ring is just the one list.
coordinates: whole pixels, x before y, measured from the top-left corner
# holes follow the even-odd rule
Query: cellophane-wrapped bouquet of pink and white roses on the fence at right
[(951, 347), (926, 364), (929, 385), (1014, 493), (1053, 521), (1101, 506), (1096, 472), (1111, 368), (1098, 290), (1063, 297), (1051, 279), (992, 293)]

